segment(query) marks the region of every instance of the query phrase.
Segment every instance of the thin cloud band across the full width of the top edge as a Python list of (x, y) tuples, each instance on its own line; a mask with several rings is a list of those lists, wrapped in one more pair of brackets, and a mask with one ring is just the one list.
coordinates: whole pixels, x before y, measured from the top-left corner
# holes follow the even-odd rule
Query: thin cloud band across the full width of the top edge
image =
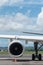
[[(3, 6), (3, 5), (24, 5), (24, 4), (43, 4), (43, 0), (0, 0), (0, 6)], [(20, 8), (22, 8), (22, 6)]]

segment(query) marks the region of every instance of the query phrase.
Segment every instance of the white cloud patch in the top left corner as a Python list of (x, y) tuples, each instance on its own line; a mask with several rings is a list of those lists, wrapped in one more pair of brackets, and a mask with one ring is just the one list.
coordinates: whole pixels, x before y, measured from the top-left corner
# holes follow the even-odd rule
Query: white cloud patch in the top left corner
[(20, 4), (22, 3), (24, 0), (0, 0), (0, 6), (3, 5), (15, 5), (15, 4)]

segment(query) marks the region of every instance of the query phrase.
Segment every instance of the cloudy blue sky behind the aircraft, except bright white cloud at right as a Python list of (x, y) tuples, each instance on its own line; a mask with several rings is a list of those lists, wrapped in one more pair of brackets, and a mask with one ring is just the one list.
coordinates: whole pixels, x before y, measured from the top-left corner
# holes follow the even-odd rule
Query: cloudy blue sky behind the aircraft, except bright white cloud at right
[[(43, 0), (0, 0), (0, 34), (43, 33), (43, 22), (37, 22), (42, 7)], [(0, 46), (7, 41), (1, 39)]]

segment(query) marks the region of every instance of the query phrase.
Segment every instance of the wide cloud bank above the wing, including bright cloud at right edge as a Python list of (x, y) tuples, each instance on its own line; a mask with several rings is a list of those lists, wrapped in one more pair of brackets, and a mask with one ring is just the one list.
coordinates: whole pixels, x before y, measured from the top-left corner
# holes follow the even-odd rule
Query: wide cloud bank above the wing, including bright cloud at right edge
[[(41, 16), (41, 18), (40, 18)], [(15, 16), (5, 15), (0, 17), (0, 30), (4, 31), (42, 31), (43, 32), (43, 11), (38, 14), (38, 18), (31, 18), (22, 13)]]

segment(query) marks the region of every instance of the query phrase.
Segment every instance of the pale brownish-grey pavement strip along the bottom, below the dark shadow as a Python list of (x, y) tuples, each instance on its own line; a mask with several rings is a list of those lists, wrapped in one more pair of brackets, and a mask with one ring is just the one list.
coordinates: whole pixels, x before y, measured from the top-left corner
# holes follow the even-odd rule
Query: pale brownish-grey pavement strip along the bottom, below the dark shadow
[(43, 61), (14, 62), (12, 60), (0, 60), (0, 65), (43, 65)]

